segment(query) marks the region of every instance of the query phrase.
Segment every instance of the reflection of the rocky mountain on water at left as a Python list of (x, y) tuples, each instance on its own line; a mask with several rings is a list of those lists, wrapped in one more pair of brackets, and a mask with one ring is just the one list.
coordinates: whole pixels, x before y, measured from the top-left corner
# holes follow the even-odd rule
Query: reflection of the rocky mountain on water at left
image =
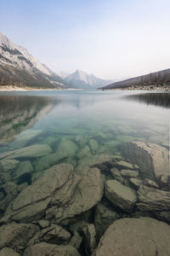
[(57, 104), (59, 99), (44, 96), (0, 96), (0, 144), (13, 142)]

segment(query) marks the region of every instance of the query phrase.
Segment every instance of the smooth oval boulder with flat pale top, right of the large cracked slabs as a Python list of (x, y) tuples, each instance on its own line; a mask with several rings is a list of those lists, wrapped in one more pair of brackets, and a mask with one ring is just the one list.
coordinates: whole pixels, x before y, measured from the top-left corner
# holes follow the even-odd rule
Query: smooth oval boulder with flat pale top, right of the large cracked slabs
[(125, 212), (132, 211), (137, 201), (135, 190), (122, 185), (122, 183), (114, 179), (106, 181), (105, 195), (113, 205), (122, 208)]

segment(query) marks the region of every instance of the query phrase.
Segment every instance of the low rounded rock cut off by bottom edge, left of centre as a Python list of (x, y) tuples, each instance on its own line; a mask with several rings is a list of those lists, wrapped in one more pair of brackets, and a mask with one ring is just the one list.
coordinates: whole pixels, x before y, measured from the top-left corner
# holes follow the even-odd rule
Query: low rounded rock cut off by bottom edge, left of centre
[(23, 256), (80, 256), (77, 249), (71, 246), (57, 246), (47, 242), (40, 242), (27, 247)]

